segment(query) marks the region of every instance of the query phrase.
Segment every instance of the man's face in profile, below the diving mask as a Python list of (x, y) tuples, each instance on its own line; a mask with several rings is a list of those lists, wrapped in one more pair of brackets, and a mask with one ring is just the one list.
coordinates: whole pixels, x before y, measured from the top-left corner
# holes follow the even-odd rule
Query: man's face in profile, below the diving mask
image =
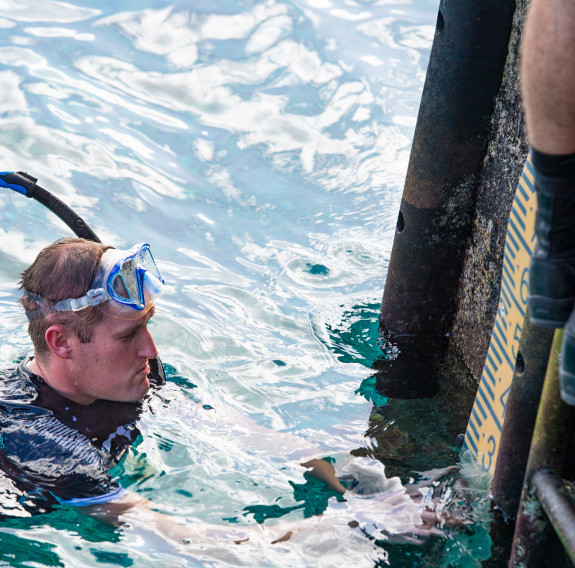
[(158, 355), (148, 330), (153, 313), (154, 308), (134, 320), (106, 317), (94, 328), (90, 343), (75, 341), (74, 377), (82, 404), (96, 399), (135, 402), (148, 392), (148, 361)]

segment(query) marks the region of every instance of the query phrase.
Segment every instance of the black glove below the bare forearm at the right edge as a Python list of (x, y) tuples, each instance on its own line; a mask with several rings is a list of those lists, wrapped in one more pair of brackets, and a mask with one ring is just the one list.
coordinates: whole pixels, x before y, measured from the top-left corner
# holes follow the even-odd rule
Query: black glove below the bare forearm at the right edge
[(536, 325), (563, 327), (575, 304), (575, 154), (532, 150), (532, 160), (537, 244), (529, 267), (529, 314)]

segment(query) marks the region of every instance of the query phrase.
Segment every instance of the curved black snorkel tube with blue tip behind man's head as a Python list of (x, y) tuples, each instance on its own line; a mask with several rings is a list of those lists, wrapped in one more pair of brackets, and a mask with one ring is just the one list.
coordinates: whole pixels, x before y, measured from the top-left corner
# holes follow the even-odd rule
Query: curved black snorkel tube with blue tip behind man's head
[(101, 242), (84, 219), (49, 191), (37, 185), (37, 181), (37, 178), (25, 172), (0, 172), (0, 187), (12, 189), (30, 199), (39, 201), (64, 221), (76, 236), (97, 243)]

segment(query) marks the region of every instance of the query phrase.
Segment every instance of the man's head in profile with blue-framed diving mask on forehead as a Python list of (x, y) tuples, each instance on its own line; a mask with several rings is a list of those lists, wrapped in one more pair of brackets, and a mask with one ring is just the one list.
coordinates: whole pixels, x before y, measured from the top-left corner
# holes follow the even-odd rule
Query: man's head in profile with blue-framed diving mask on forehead
[(46, 247), (22, 273), (21, 289), (34, 343), (32, 370), (61, 394), (139, 400), (157, 356), (148, 330), (163, 291), (147, 245), (117, 251), (84, 239)]

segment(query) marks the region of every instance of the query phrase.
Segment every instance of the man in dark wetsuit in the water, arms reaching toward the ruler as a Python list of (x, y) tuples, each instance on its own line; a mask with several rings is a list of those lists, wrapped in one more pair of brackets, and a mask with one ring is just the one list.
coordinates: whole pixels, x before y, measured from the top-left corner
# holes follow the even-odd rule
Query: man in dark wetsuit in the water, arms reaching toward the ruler
[[(146, 410), (148, 392), (165, 381), (148, 329), (164, 289), (145, 244), (120, 251), (69, 238), (40, 252), (21, 281), (20, 302), (30, 322), (34, 354), (0, 381), (0, 468), (26, 494), (23, 504), (32, 513), (57, 503), (72, 505), (105, 521), (152, 526), (180, 543), (258, 538), (269, 543), (309, 535), (309, 522), (266, 529), (265, 537), (257, 526), (241, 531), (182, 526), (153, 512), (146, 499), (110, 476), (139, 435), (137, 420)], [(289, 436), (274, 435), (282, 443)], [(313, 459), (303, 465), (334, 491), (346, 492), (328, 462)], [(351, 467), (352, 476), (358, 471)], [(359, 499), (351, 511), (346, 494), (345, 505), (308, 521), (315, 530), (345, 528), (350, 521), (357, 527), (358, 516), (370, 522), (386, 507), (394, 514), (399, 507), (407, 519), (402, 526), (412, 534), (429, 535), (437, 517), (412, 501), (396, 481), (385, 499)], [(422, 519), (427, 527), (421, 528)]]

